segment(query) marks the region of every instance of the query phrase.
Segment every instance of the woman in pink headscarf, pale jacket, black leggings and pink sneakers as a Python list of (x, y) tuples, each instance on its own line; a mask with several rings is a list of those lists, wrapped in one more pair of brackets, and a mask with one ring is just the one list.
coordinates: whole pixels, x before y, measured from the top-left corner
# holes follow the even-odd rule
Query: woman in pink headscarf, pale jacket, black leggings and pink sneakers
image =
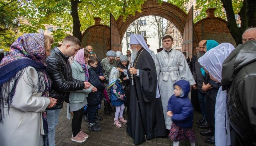
[[(88, 72), (88, 60), (90, 57), (90, 52), (87, 49), (80, 49), (74, 57), (74, 62), (71, 64), (72, 76), (74, 79), (80, 81), (89, 80)], [(70, 92), (69, 95), (69, 108), (70, 112), (73, 112), (74, 117), (72, 119), (72, 141), (84, 142), (89, 136), (81, 131), (81, 124), (83, 120), (84, 106), (87, 104), (88, 93), (96, 91), (95, 87), (90, 87), (88, 89), (78, 90), (75, 92)]]

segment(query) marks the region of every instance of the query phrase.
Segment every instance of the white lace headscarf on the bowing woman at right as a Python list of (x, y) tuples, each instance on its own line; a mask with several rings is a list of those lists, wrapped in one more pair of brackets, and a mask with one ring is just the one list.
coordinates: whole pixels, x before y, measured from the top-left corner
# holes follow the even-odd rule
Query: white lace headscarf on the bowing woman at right
[(221, 82), (222, 64), (234, 49), (235, 47), (230, 43), (221, 43), (206, 52), (198, 62), (210, 75)]

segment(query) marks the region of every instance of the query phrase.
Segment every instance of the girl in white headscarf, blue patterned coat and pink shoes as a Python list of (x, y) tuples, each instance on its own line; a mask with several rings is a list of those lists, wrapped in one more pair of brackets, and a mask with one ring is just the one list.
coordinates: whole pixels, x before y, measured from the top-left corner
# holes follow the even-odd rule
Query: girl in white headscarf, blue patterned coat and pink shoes
[(125, 103), (125, 94), (122, 88), (121, 79), (119, 79), (119, 71), (115, 67), (112, 68), (109, 74), (109, 91), (110, 91), (110, 101), (111, 105), (115, 106), (116, 112), (115, 112), (115, 119), (114, 119), (114, 125), (117, 128), (120, 128), (123, 124), (127, 123), (127, 120), (124, 119), (123, 113), (124, 113), (124, 103)]

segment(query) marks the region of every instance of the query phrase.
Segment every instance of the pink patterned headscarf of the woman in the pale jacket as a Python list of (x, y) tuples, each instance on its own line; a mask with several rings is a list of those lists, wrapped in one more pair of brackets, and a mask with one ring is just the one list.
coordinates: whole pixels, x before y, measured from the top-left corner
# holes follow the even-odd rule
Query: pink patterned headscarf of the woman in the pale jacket
[(88, 72), (88, 63), (85, 64), (85, 61), (84, 61), (84, 48), (83, 49), (80, 49), (78, 50), (77, 54), (75, 55), (74, 57), (75, 61), (77, 61), (81, 66), (82, 68), (84, 69), (84, 72), (85, 72), (85, 81), (88, 82), (89, 80), (89, 72)]

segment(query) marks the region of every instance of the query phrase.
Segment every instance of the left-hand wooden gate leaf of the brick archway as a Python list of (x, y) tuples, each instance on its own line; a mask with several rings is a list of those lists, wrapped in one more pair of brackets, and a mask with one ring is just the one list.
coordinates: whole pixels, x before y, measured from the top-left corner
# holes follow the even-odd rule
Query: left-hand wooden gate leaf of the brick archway
[(120, 39), (119, 30), (117, 27), (116, 20), (114, 16), (110, 13), (110, 49), (113, 51), (122, 52), (122, 44)]

